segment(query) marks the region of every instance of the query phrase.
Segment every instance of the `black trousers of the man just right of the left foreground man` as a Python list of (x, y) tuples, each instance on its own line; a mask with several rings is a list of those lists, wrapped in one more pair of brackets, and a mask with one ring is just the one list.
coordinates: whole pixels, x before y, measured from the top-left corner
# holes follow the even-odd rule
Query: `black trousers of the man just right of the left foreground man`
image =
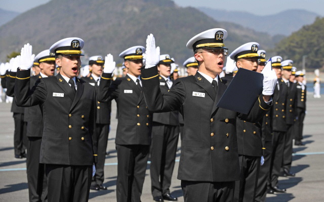
[(98, 148), (98, 163), (96, 164), (96, 174), (92, 178), (92, 184), (102, 184), (104, 176), (104, 167), (106, 160), (106, 149), (108, 143), (109, 124), (96, 124), (97, 139), (93, 140)]

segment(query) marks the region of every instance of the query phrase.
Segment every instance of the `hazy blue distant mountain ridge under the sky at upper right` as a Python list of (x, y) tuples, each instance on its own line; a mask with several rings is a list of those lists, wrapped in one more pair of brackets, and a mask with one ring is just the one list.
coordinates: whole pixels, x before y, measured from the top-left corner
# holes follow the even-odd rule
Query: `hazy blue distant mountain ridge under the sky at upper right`
[(314, 22), (319, 16), (306, 10), (287, 10), (268, 16), (257, 16), (248, 12), (224, 11), (200, 7), (200, 11), (218, 21), (227, 21), (271, 35), (290, 35), (303, 25)]

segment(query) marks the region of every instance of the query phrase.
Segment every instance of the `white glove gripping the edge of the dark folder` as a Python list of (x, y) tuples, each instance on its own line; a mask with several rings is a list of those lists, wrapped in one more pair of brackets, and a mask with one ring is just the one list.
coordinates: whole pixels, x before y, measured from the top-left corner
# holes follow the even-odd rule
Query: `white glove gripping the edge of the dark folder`
[(277, 83), (277, 75), (274, 70), (271, 71), (271, 62), (268, 61), (261, 72), (263, 74), (263, 95), (272, 95), (275, 84)]

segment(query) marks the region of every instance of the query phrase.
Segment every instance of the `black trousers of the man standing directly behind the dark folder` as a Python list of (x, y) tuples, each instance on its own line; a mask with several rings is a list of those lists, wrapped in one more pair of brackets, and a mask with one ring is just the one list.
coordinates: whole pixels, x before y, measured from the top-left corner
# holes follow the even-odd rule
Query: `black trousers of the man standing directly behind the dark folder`
[(235, 202), (250, 202), (255, 200), (258, 184), (261, 157), (239, 155), (240, 175), (235, 181)]

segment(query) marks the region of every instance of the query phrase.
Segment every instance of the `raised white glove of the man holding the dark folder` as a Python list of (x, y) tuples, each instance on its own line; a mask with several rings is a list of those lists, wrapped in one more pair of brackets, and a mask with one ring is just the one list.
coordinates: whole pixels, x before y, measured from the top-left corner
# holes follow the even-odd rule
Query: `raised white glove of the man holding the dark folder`
[(154, 67), (160, 61), (160, 47), (155, 48), (155, 38), (153, 34), (147, 36), (146, 39), (146, 65), (145, 69)]

